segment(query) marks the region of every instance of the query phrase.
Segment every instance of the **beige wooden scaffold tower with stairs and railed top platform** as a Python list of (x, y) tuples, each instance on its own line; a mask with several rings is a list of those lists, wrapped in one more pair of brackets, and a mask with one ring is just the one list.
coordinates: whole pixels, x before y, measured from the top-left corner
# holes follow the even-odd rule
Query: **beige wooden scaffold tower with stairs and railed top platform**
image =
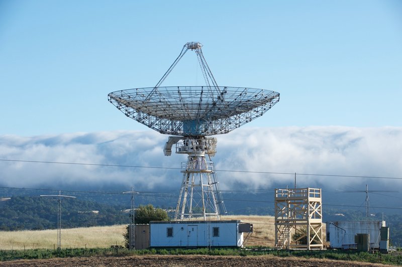
[(323, 249), (322, 214), (321, 189), (275, 189), (275, 248)]

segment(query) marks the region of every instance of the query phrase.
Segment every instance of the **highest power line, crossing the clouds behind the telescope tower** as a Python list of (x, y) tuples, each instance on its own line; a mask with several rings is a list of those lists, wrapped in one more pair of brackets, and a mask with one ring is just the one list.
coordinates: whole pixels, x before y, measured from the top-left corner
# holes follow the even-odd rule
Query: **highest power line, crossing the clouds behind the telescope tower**
[[(65, 164), (65, 165), (83, 165), (83, 166), (99, 166), (99, 167), (122, 167), (122, 168), (146, 168), (146, 169), (165, 169), (165, 170), (181, 170), (181, 168), (173, 167), (157, 167), (157, 166), (135, 166), (135, 165), (118, 165), (118, 164), (93, 164), (93, 163), (74, 163), (74, 162), (53, 162), (53, 161), (25, 161), (25, 160), (6, 160), (4, 162), (25, 162), (25, 163), (45, 163), (45, 164)], [(338, 174), (312, 174), (312, 173), (282, 173), (282, 172), (260, 172), (260, 171), (239, 171), (239, 170), (216, 170), (217, 172), (233, 172), (233, 173), (255, 173), (255, 174), (278, 174), (278, 175), (302, 175), (302, 176), (328, 176), (328, 177), (344, 177), (344, 178), (369, 178), (369, 179), (392, 179), (402, 180), (401, 177), (382, 177), (382, 176), (363, 176), (363, 175), (338, 175)]]

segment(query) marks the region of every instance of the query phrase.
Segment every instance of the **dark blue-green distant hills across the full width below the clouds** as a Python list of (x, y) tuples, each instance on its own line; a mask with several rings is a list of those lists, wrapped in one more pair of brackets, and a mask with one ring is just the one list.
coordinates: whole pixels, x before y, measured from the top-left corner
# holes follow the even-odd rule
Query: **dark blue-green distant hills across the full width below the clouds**
[[(121, 210), (130, 208), (130, 196), (123, 195), (123, 187), (110, 187), (108, 192), (95, 190), (71, 190), (65, 194), (76, 199), (62, 199), (62, 224), (65, 227), (102, 226), (129, 223), (127, 213)], [(135, 205), (152, 204), (163, 209), (175, 209), (177, 195), (171, 193), (141, 192), (136, 195)], [(16, 229), (54, 229), (57, 228), (57, 199), (40, 198), (40, 194), (55, 194), (53, 191), (32, 189), (0, 188), (0, 230)], [(228, 210), (227, 215), (274, 215), (273, 190), (250, 192), (224, 192), (223, 198)], [(337, 194), (323, 191), (323, 222), (365, 220), (364, 194)], [(394, 199), (394, 200), (393, 200)], [(358, 201), (356, 201), (358, 200)], [(370, 196), (372, 220), (384, 220), (390, 226), (393, 244), (402, 245), (401, 209), (389, 209), (400, 206), (399, 198), (383, 195)], [(383, 207), (383, 208), (379, 208)], [(91, 211), (99, 211), (98, 214)], [(170, 214), (173, 216), (172, 214)]]

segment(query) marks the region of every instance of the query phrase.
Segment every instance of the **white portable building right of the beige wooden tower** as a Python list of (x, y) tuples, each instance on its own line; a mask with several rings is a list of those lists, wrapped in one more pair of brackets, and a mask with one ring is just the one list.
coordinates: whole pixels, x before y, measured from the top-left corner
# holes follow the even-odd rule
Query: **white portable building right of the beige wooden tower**
[[(380, 230), (385, 221), (370, 221), (370, 247), (379, 248)], [(331, 221), (327, 222), (327, 242), (332, 248), (356, 248), (355, 235), (367, 233), (366, 221)]]

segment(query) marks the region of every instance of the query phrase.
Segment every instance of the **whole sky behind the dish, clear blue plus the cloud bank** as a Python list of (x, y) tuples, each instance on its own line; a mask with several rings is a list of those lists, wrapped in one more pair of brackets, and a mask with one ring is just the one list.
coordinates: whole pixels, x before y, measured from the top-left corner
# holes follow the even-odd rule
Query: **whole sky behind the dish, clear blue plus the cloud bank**
[[(189, 41), (204, 44), (219, 85), (281, 94), (218, 137), (222, 188), (294, 178), (219, 170), (397, 178), (297, 178), (328, 191), (401, 188), (402, 2), (386, 0), (0, 0), (0, 185), (178, 191), (178, 170), (4, 159), (179, 167), (183, 155), (163, 156), (167, 136), (107, 95), (154, 86)], [(203, 85), (197, 64), (189, 51), (163, 85)]]

